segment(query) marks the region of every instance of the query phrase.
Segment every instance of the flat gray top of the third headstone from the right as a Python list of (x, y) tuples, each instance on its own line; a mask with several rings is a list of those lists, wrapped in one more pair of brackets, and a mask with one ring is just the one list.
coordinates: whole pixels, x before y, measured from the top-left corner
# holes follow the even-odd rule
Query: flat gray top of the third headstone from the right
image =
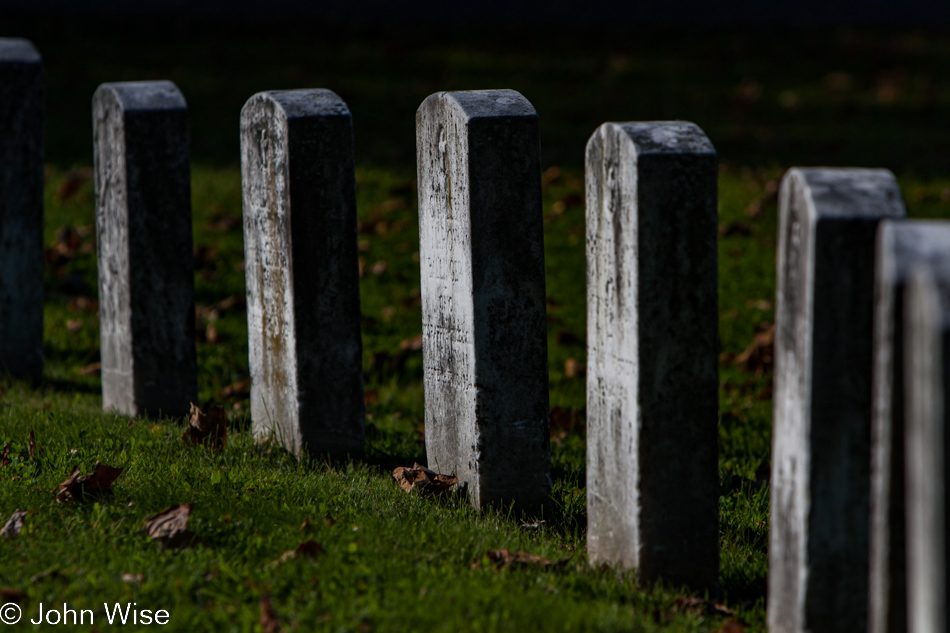
[(822, 218), (902, 218), (906, 215), (897, 179), (887, 169), (794, 167), (809, 213)]

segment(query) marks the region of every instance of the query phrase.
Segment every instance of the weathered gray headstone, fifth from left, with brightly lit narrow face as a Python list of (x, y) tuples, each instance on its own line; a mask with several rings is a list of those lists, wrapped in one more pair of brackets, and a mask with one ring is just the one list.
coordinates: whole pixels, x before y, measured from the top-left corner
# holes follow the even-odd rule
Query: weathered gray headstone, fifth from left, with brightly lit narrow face
[(716, 151), (685, 121), (587, 143), (587, 550), (716, 593)]

